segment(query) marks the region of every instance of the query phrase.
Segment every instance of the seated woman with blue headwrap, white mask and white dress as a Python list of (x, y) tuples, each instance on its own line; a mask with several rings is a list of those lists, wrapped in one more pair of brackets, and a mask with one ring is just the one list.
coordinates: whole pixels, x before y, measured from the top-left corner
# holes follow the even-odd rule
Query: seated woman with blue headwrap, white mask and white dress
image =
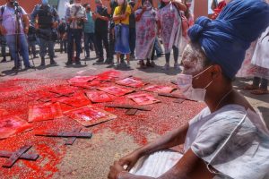
[[(266, 177), (269, 131), (233, 89), (232, 80), (247, 47), (269, 25), (268, 16), (269, 5), (263, 0), (233, 0), (216, 21), (195, 21), (188, 31), (192, 43), (182, 57), (178, 86), (187, 98), (204, 101), (207, 107), (189, 124), (115, 162), (108, 179)], [(164, 149), (180, 144), (185, 145), (182, 157), (165, 155), (171, 152)]]

